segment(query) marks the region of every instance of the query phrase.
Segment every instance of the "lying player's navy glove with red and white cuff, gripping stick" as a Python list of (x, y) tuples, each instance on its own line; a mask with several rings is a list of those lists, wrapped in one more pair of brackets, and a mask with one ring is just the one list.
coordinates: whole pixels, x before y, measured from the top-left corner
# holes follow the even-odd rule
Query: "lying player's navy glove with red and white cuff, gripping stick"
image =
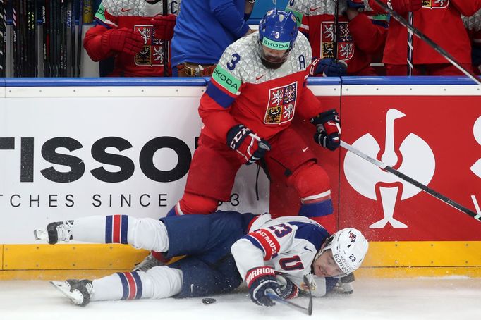
[(276, 305), (266, 295), (267, 289), (274, 290), (274, 293), (281, 297), (281, 285), (276, 281), (276, 275), (272, 266), (259, 266), (252, 268), (245, 275), (245, 281), (249, 288), (250, 300), (255, 304), (272, 307)]

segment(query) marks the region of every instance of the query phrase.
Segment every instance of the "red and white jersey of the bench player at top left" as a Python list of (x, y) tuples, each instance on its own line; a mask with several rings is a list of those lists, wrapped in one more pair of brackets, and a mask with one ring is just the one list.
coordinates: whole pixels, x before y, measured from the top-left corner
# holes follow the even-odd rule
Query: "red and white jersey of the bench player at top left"
[[(163, 1), (150, 4), (145, 0), (103, 0), (95, 14), (97, 26), (88, 30), (84, 39), (85, 49), (92, 60), (99, 61), (116, 55), (114, 76), (164, 76), (164, 40), (155, 37), (154, 27), (150, 23), (152, 17), (162, 15)], [(169, 13), (176, 14), (180, 2), (170, 0)], [(135, 56), (123, 52), (105, 54), (102, 50), (102, 34), (111, 28), (121, 27), (139, 32), (144, 39), (144, 49)], [(168, 56), (170, 60), (170, 52)]]

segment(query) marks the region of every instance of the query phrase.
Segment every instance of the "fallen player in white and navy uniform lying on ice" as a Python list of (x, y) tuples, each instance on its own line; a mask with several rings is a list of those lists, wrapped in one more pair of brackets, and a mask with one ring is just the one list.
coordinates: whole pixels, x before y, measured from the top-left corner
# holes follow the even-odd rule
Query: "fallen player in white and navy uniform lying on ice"
[[(303, 216), (272, 219), (270, 214), (236, 211), (160, 220), (90, 216), (49, 223), (46, 230), (35, 230), (35, 238), (48, 239), (50, 244), (69, 240), (123, 243), (164, 252), (166, 258), (186, 255), (169, 266), (154, 266), (145, 272), (52, 282), (81, 306), (99, 300), (228, 293), (242, 281), (246, 281), (252, 301), (264, 306), (274, 305), (267, 289), (290, 299), (310, 285), (312, 295), (322, 296), (334, 289), (339, 278), (353, 281), (350, 275), (362, 264), (368, 247), (364, 236), (353, 228), (329, 235), (319, 223)], [(304, 283), (303, 276), (310, 283)], [(350, 287), (348, 282), (339, 281)]]

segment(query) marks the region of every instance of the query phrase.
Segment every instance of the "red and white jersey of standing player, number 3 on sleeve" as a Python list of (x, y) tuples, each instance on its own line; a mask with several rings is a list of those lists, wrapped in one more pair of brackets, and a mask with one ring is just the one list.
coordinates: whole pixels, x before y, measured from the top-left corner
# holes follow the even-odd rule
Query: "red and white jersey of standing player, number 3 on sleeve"
[(202, 134), (226, 143), (229, 129), (243, 124), (269, 139), (288, 128), (298, 112), (313, 118), (323, 111), (306, 83), (312, 59), (300, 32), (281, 68), (262, 65), (257, 32), (238, 39), (221, 56), (200, 99)]

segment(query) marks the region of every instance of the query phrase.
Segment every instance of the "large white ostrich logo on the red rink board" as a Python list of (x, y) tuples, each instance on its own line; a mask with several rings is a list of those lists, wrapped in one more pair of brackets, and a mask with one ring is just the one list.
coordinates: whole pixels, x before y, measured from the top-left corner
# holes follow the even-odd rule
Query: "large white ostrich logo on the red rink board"
[[(404, 116), (406, 116), (404, 113), (396, 109), (387, 111), (384, 152), (380, 160), (388, 166), (398, 167), (398, 171), (427, 185), (434, 176), (435, 167), (434, 154), (430, 146), (418, 135), (409, 133), (401, 142), (398, 150), (402, 157), (398, 157), (394, 149), (396, 145), (394, 143), (394, 121)], [(369, 154), (372, 157), (376, 157), (381, 149), (379, 143), (369, 133), (356, 140), (353, 143), (353, 147), (363, 150), (365, 154)], [(346, 154), (343, 168), (346, 179), (354, 190), (372, 200), (379, 200), (377, 195), (381, 198), (384, 218), (372, 223), (370, 228), (384, 228), (387, 223), (390, 223), (394, 228), (408, 227), (405, 223), (394, 219), (396, 199), (401, 198), (402, 201), (414, 197), (421, 192), (418, 187), (401, 180), (389, 172), (382, 171), (377, 166), (361, 159), (352, 152)], [(360, 174), (360, 172), (363, 174)], [(400, 183), (402, 183), (402, 191)], [(398, 197), (399, 192), (402, 192), (401, 197)]]

